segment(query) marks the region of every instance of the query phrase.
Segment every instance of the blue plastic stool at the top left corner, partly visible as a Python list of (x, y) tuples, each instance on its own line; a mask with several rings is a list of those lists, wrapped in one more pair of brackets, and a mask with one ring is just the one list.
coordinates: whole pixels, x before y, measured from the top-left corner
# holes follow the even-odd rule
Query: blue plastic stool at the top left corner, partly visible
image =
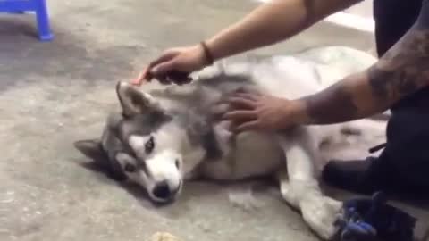
[(0, 12), (23, 13), (27, 11), (36, 12), (40, 41), (51, 41), (54, 35), (49, 26), (46, 0), (0, 0)]

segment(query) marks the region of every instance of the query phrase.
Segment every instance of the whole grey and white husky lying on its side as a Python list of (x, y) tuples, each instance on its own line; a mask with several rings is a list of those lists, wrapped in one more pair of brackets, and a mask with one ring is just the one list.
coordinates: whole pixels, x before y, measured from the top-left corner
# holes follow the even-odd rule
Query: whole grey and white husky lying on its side
[[(332, 63), (332, 58), (349, 63)], [(341, 79), (372, 62), (368, 54), (327, 47), (224, 62), (200, 71), (198, 80), (183, 86), (148, 84), (140, 89), (119, 82), (121, 110), (108, 116), (99, 140), (81, 140), (75, 146), (107, 163), (115, 179), (139, 184), (157, 203), (175, 200), (188, 179), (274, 177), (285, 201), (302, 213), (318, 236), (330, 239), (342, 203), (319, 187), (318, 148), (326, 138), (344, 133), (348, 124), (232, 135), (229, 123), (220, 118), (227, 109), (223, 100), (240, 89), (299, 98), (328, 85), (328, 79)]]

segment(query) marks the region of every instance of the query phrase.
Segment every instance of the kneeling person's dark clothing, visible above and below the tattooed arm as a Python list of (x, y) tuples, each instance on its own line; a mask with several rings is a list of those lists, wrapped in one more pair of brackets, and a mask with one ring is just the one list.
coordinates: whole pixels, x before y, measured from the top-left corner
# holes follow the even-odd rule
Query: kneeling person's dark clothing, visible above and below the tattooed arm
[[(407, 33), (423, 0), (374, 0), (375, 43), (382, 57)], [(429, 195), (429, 87), (391, 107), (387, 144), (366, 161), (332, 161), (323, 178), (332, 186), (364, 194)]]

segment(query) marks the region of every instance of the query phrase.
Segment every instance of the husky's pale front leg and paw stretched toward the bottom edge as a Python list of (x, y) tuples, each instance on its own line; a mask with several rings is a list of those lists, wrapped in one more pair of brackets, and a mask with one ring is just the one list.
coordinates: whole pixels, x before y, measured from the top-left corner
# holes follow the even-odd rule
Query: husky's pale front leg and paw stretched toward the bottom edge
[(341, 214), (342, 204), (325, 196), (319, 186), (315, 170), (316, 145), (307, 129), (296, 129), (291, 134), (288, 139), (280, 137), (288, 169), (288, 177), (283, 173), (280, 179), (282, 196), (302, 213), (318, 236), (329, 240), (336, 232), (334, 223)]

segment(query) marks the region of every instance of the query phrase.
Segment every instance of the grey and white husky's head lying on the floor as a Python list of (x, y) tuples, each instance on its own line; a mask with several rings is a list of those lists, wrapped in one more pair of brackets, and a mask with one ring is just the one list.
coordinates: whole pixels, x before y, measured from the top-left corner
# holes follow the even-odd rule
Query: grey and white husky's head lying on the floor
[(99, 141), (75, 146), (104, 163), (114, 179), (139, 184), (156, 203), (171, 202), (181, 192), (184, 153), (191, 148), (186, 130), (137, 87), (120, 82), (116, 92), (122, 112), (109, 116)]

